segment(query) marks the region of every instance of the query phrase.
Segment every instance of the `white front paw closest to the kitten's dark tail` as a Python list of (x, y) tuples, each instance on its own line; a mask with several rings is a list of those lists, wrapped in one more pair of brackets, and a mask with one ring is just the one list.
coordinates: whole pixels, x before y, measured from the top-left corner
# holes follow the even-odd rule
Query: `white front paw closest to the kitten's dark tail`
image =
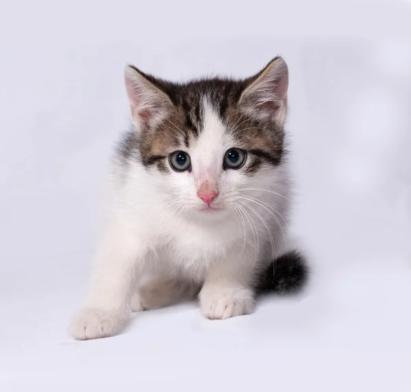
[(249, 315), (254, 308), (254, 295), (249, 289), (203, 287), (200, 304), (209, 319), (229, 319)]

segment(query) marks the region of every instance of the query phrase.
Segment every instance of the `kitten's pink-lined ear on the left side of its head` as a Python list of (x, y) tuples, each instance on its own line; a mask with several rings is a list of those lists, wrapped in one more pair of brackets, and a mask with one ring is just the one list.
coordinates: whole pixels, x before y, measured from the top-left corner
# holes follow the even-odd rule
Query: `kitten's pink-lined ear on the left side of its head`
[(125, 67), (124, 78), (132, 119), (137, 130), (164, 118), (173, 105), (169, 96), (134, 66)]

